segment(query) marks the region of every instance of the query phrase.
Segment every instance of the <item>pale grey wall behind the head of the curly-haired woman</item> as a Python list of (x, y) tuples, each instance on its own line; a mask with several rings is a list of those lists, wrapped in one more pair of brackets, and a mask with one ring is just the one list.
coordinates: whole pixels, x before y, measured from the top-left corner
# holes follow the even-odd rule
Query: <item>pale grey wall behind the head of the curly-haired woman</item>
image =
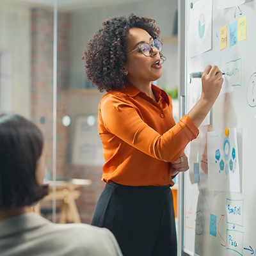
[[(162, 31), (161, 38), (166, 38), (172, 36), (176, 10), (177, 0), (148, 0), (72, 11), (70, 88), (84, 87), (86, 74), (81, 56), (104, 20), (130, 13), (147, 16), (156, 19)], [(173, 89), (178, 85), (177, 45), (164, 45), (163, 54), (167, 60), (163, 65), (163, 77), (157, 85)]]

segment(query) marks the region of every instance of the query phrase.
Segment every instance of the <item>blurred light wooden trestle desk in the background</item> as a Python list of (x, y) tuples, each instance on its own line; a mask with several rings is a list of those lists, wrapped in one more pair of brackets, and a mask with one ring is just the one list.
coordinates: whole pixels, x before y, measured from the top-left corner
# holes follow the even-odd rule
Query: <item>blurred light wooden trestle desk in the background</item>
[[(81, 223), (79, 212), (76, 206), (76, 199), (79, 198), (81, 192), (77, 190), (81, 186), (88, 186), (92, 184), (92, 180), (87, 179), (72, 179), (70, 181), (49, 182), (49, 194), (45, 196), (42, 201), (52, 201), (61, 200), (60, 208), (60, 223)], [(56, 193), (54, 193), (53, 188), (56, 186)], [(54, 195), (55, 194), (55, 195)], [(34, 211), (40, 214), (40, 202), (35, 205)]]

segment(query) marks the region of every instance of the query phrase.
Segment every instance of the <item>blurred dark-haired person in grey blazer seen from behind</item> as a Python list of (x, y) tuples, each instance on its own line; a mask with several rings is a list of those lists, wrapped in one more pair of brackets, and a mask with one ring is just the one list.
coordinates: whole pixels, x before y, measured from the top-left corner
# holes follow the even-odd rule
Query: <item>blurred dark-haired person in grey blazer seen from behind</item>
[(122, 255), (106, 228), (55, 224), (33, 205), (47, 195), (42, 132), (19, 115), (0, 115), (0, 255)]

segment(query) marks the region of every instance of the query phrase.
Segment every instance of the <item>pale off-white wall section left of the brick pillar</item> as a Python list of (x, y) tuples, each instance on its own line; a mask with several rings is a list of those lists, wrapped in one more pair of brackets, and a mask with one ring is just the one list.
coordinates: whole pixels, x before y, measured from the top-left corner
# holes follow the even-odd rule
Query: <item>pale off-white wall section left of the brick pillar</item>
[[(30, 117), (30, 12), (19, 4), (0, 4), (0, 54), (10, 56), (13, 113)], [(9, 64), (10, 64), (9, 63)], [(4, 63), (2, 63), (4, 65)], [(3, 67), (3, 66), (2, 66)], [(6, 86), (2, 80), (1, 87)], [(9, 85), (8, 85), (9, 86)], [(1, 91), (3, 93), (3, 91)], [(10, 90), (5, 91), (7, 94)], [(3, 96), (3, 95), (2, 95)], [(1, 99), (1, 98), (0, 98)]]

